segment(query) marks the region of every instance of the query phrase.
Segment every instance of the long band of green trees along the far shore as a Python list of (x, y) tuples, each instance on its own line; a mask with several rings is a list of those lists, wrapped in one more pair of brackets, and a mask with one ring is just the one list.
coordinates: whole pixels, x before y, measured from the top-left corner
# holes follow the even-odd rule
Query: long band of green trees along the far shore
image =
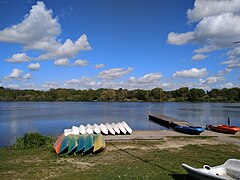
[(149, 101), (149, 102), (240, 102), (240, 88), (203, 89), (181, 87), (172, 91), (127, 89), (15, 90), (0, 87), (0, 101)]

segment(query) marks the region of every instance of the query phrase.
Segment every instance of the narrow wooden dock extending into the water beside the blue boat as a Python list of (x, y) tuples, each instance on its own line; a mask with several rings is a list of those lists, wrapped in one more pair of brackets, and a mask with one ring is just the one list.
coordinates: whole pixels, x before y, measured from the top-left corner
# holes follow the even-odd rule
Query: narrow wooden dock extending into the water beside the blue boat
[(160, 125), (163, 125), (165, 127), (171, 127), (174, 128), (176, 126), (189, 126), (190, 124), (187, 121), (183, 121), (183, 120), (178, 120), (169, 116), (165, 116), (163, 114), (161, 115), (148, 115), (149, 116), (149, 120), (152, 120)]

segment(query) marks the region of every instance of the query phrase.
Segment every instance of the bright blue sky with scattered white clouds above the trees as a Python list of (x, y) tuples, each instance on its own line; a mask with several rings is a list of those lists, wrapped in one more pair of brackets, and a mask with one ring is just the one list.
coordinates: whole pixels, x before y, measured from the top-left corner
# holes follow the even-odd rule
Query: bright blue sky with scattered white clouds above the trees
[(1, 0), (0, 86), (240, 87), (240, 0)]

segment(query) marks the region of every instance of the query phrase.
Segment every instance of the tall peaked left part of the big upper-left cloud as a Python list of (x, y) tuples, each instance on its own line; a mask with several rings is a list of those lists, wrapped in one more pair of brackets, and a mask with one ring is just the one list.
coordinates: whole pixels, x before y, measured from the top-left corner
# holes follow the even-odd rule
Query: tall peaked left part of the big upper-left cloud
[(39, 42), (54, 42), (60, 32), (60, 24), (56, 18), (52, 18), (52, 10), (47, 10), (43, 2), (37, 2), (21, 23), (0, 31), (0, 41), (19, 43), (30, 48)]

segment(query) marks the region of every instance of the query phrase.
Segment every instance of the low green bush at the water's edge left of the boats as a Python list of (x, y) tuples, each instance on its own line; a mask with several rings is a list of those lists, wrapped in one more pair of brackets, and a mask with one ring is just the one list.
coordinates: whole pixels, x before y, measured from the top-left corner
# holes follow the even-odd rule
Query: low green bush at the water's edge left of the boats
[(15, 149), (27, 149), (35, 147), (50, 147), (53, 144), (51, 136), (43, 136), (39, 133), (26, 133), (23, 137), (17, 138), (13, 145)]

